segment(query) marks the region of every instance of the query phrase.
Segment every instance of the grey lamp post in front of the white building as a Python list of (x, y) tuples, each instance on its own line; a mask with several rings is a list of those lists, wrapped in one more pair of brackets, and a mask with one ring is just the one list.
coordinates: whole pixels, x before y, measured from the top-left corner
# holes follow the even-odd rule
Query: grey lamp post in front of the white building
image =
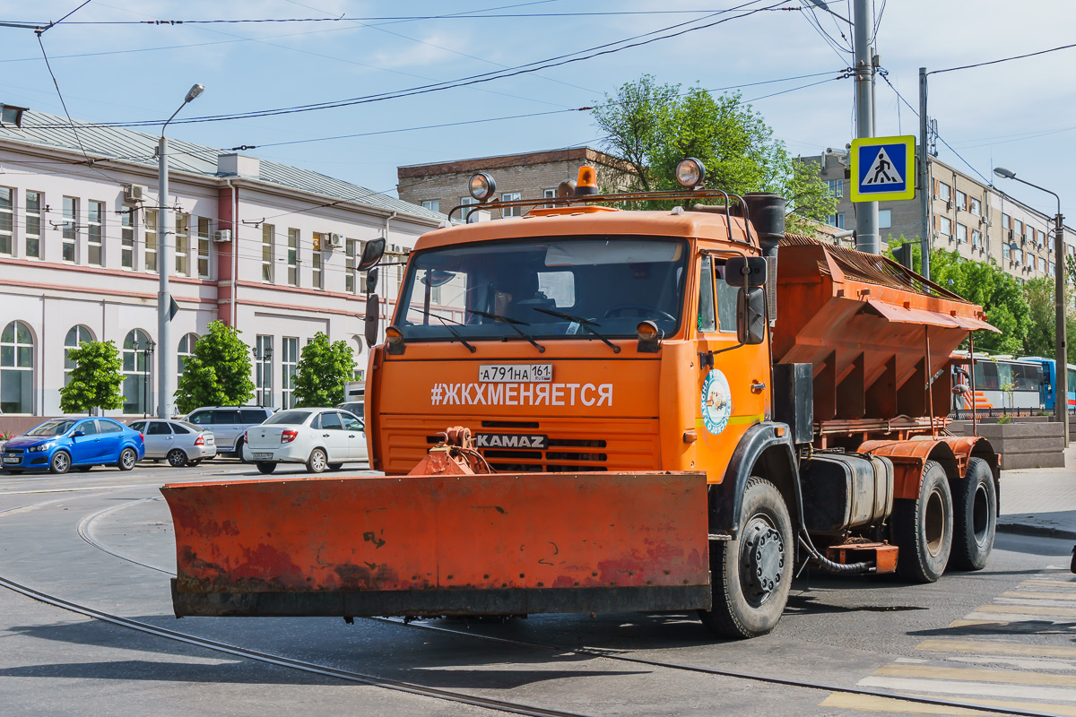
[[(193, 101), (196, 97), (202, 94), (206, 89), (202, 85), (195, 85), (187, 92), (187, 96), (183, 98), (183, 104), (172, 113), (164, 126), (160, 128), (160, 141), (157, 143), (157, 203), (160, 205), (157, 209), (157, 236), (158, 236), (158, 255), (157, 255), (157, 272), (159, 275), (159, 287), (157, 289), (157, 340), (162, 348), (160, 350), (160, 356), (157, 361), (157, 417), (168, 418), (170, 415), (170, 403), (172, 400), (172, 353), (168, 350), (169, 346), (172, 345), (171, 342), (171, 322), (172, 322), (172, 295), (168, 288), (168, 274), (171, 272), (172, 264), (172, 241), (168, 239), (169, 234), (169, 221), (168, 218), (170, 213), (168, 211), (168, 140), (165, 139), (165, 130), (168, 128), (168, 123), (175, 118), (175, 115), (180, 114), (180, 110), (187, 105), (188, 102)], [(174, 227), (172, 227), (174, 230)], [(174, 231), (172, 232), (174, 235)]]

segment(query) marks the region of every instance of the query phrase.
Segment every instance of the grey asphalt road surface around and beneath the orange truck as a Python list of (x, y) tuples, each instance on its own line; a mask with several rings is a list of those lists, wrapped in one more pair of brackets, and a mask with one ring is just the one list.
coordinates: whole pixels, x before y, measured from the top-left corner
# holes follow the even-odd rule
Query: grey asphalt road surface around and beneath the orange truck
[[(303, 473), (272, 477), (289, 475)], [(1076, 714), (1076, 576), (1061, 541), (999, 535), (987, 570), (925, 586), (811, 572), (778, 629), (746, 642), (716, 641), (688, 614), (175, 620), (157, 489), (221, 476), (260, 477), (220, 459), (0, 474), (0, 713), (504, 714), (468, 703), (495, 700), (523, 714), (965, 714), (860, 690)]]

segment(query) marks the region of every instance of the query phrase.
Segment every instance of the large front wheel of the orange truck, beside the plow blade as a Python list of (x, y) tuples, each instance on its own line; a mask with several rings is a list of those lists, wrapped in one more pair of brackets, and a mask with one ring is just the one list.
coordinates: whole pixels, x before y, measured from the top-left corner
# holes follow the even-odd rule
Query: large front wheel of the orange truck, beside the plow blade
[(698, 611), (723, 637), (764, 635), (781, 619), (792, 586), (792, 520), (774, 484), (752, 476), (736, 540), (710, 543), (713, 603)]

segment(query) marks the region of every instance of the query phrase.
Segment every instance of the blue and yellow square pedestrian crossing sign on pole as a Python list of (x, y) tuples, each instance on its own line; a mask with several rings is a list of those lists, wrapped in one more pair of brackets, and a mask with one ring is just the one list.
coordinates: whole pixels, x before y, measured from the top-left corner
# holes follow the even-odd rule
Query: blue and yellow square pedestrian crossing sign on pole
[(851, 169), (853, 202), (915, 199), (915, 135), (852, 140)]

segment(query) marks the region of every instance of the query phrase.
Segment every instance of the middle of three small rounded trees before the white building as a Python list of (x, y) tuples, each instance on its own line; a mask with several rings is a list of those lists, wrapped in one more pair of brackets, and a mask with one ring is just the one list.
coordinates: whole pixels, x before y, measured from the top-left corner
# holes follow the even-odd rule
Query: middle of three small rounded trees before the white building
[(175, 391), (181, 413), (203, 405), (243, 405), (254, 396), (251, 354), (237, 329), (211, 321), (183, 364)]

